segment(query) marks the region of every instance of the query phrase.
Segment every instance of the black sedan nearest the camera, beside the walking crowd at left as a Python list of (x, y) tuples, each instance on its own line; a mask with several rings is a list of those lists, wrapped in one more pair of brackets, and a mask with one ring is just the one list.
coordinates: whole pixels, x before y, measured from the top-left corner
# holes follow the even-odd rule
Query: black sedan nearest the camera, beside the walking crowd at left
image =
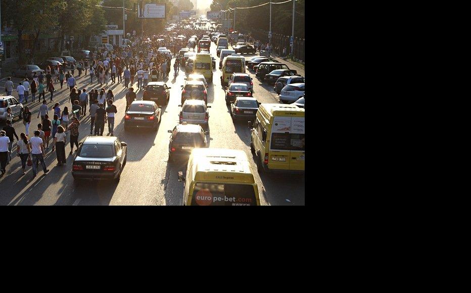
[(78, 179), (114, 179), (119, 181), (126, 164), (127, 143), (115, 136), (88, 136), (79, 143), (72, 165), (72, 177)]

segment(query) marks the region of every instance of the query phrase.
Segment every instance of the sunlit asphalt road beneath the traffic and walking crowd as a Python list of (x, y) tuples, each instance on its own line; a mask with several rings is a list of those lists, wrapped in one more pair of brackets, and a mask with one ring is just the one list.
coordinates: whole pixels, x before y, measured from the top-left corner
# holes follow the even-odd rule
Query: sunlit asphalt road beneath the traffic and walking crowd
[[(211, 55), (216, 57), (215, 45), (211, 44)], [(253, 55), (245, 55), (246, 58)], [(173, 63), (174, 60), (172, 60)], [(216, 65), (219, 59), (216, 57)], [(298, 70), (304, 76), (304, 69), (287, 63), (291, 69)], [(254, 170), (256, 182), (260, 191), (260, 202), (262, 205), (304, 205), (304, 175), (293, 174), (263, 174), (261, 177), (257, 172), (256, 164), (250, 152), (250, 130), (246, 122), (234, 124), (230, 118), (229, 110), (224, 102), (224, 89), (220, 84), (220, 70), (214, 70), (214, 83), (208, 88), (208, 104), (210, 109), (209, 130), (207, 135), (210, 148), (227, 148), (244, 150)], [(253, 74), (249, 72), (254, 81), (254, 97), (261, 103), (278, 103), (278, 95), (272, 86), (262, 84)], [(70, 145), (66, 146), (67, 164), (56, 166), (56, 154), (52, 147), (46, 151), (45, 162), (51, 170), (43, 174), (38, 170), (38, 176), (32, 177), (31, 167), (27, 167), (26, 175), (22, 174), (21, 161), (16, 156), (16, 140), (12, 162), (7, 166), (7, 173), (0, 178), (0, 205), (181, 205), (183, 183), (178, 182), (178, 171), (185, 171), (186, 164), (168, 163), (168, 138), (169, 129), (178, 124), (179, 103), (181, 87), (184, 83), (185, 74), (180, 69), (176, 78), (173, 77), (173, 66), (170, 78), (166, 81), (171, 87), (170, 102), (162, 108), (162, 122), (157, 132), (152, 130), (133, 130), (124, 132), (124, 110), (126, 89), (123, 84), (112, 84), (106, 90), (112, 89), (115, 94), (115, 105), (118, 114), (115, 118), (114, 135), (128, 144), (127, 163), (123, 168), (121, 181), (119, 183), (106, 181), (81, 181), (75, 183), (72, 175), (73, 156), (68, 155)], [(6, 79), (5, 79), (6, 80)], [(5, 80), (0, 81), (0, 87), (4, 86)], [(13, 78), (17, 83), (18, 78)], [(79, 77), (77, 85), (80, 89), (86, 88), (87, 92), (93, 88), (101, 88), (100, 84), (90, 83), (89, 77)], [(71, 107), (68, 102), (69, 90), (60, 89), (60, 84), (55, 84), (57, 95), (54, 102)], [(135, 84), (134, 84), (134, 87)], [(0, 92), (4, 92), (0, 88)], [(14, 92), (14, 96), (17, 96)], [(49, 94), (46, 97), (49, 101)], [(59, 98), (58, 98), (59, 97)], [(138, 91), (137, 98), (142, 99), (142, 91)], [(29, 99), (30, 101), (30, 99)], [(25, 104), (33, 112), (31, 130), (39, 123), (37, 111), (40, 104), (31, 106)], [(48, 104), (51, 108), (54, 103)], [(52, 110), (51, 110), (52, 111)], [(34, 121), (33, 121), (34, 120)], [(88, 116), (82, 118), (80, 123), (80, 140), (90, 133), (90, 119)], [(0, 125), (3, 127), (4, 125)], [(21, 120), (15, 120), (13, 126), (18, 135), (24, 132)], [(108, 133), (105, 126), (104, 135)]]

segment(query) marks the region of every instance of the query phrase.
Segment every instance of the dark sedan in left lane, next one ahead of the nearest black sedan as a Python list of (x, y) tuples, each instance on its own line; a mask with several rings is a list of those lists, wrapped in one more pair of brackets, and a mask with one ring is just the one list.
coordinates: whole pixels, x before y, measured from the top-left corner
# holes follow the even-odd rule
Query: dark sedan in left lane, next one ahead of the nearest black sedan
[(134, 101), (124, 116), (124, 130), (130, 127), (153, 128), (157, 130), (162, 110), (152, 101)]

